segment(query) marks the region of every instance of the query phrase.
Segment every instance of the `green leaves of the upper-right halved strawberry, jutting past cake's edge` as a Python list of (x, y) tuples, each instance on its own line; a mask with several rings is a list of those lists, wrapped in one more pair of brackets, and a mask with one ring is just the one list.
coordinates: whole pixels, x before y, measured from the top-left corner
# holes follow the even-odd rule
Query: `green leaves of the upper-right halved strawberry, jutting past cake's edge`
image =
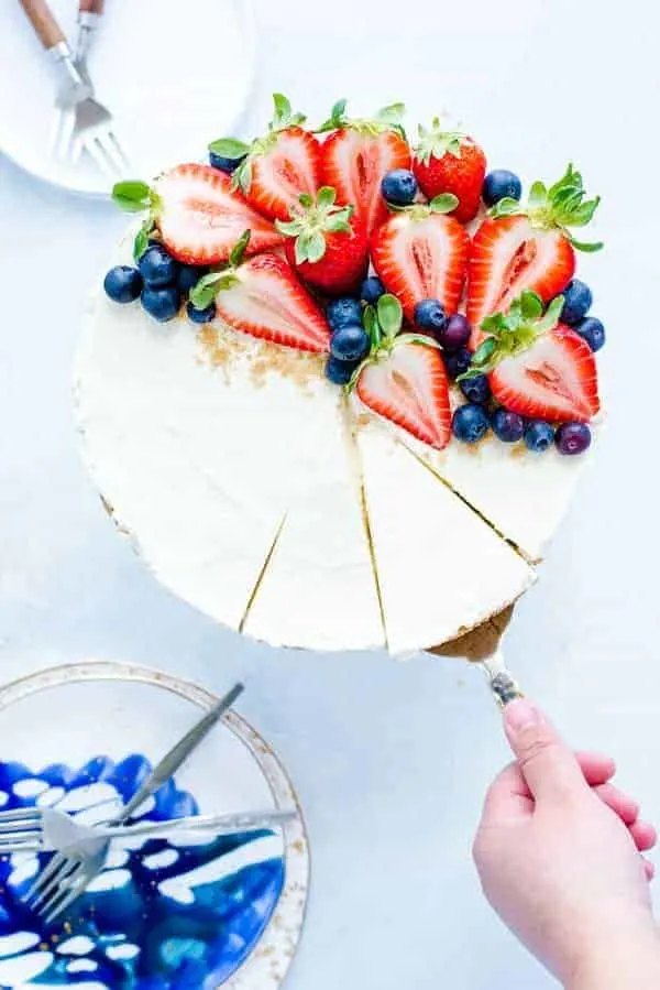
[(579, 241), (569, 229), (586, 227), (593, 219), (601, 197), (585, 199), (585, 195), (581, 173), (569, 164), (561, 178), (550, 188), (542, 182), (534, 183), (529, 191), (527, 207), (521, 206), (517, 199), (504, 198), (495, 204), (490, 216), (497, 218), (524, 215), (529, 217), (532, 227), (561, 230), (578, 251), (600, 251), (603, 247), (601, 241), (595, 243)]

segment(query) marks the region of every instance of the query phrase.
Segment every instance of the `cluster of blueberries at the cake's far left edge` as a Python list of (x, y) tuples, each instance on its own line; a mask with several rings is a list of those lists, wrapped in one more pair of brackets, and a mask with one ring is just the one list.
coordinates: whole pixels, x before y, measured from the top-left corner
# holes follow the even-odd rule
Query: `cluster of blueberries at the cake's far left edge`
[[(152, 239), (136, 268), (118, 264), (110, 269), (103, 289), (114, 303), (132, 303), (139, 298), (150, 316), (166, 323), (174, 319), (183, 301), (207, 272), (208, 268), (201, 265), (182, 264), (160, 241)], [(193, 323), (209, 323), (216, 316), (216, 304), (197, 309), (188, 301), (186, 312)]]

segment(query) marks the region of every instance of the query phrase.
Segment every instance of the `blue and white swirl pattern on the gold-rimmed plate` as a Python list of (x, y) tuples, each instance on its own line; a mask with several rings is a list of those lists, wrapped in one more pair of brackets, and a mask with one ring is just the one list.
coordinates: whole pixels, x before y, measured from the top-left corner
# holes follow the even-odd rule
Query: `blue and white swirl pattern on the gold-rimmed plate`
[[(151, 772), (145, 757), (95, 757), (79, 770), (53, 764), (38, 773), (0, 763), (7, 811), (67, 802), (85, 794), (127, 802)], [(85, 790), (84, 790), (85, 788)], [(77, 793), (78, 792), (78, 793)], [(79, 798), (79, 799), (78, 799)], [(144, 818), (197, 813), (195, 798), (168, 781)], [(270, 831), (176, 845), (147, 839), (127, 848), (72, 905), (44, 926), (22, 902), (46, 857), (0, 858), (0, 986), (95, 990), (207, 990), (224, 982), (258, 943), (284, 886), (284, 859)]]

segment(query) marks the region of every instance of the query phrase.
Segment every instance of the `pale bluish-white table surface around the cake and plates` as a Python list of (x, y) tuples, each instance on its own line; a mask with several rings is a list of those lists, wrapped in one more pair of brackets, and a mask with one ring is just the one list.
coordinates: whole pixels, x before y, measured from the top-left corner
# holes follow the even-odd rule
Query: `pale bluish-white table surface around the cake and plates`
[[(570, 739), (613, 751), (660, 822), (654, 6), (256, 0), (256, 14), (254, 127), (273, 89), (318, 117), (343, 95), (361, 112), (402, 97), (422, 118), (462, 115), (493, 165), (553, 178), (573, 159), (603, 194), (607, 251), (584, 271), (609, 331), (608, 428), (507, 650)], [(70, 370), (85, 294), (123, 222), (0, 159), (0, 677), (97, 656), (217, 689), (246, 681), (241, 710), (293, 773), (312, 840), (290, 990), (552, 986), (492, 915), (470, 859), (507, 759), (481, 673), (256, 646), (160, 588), (106, 518), (78, 456)]]

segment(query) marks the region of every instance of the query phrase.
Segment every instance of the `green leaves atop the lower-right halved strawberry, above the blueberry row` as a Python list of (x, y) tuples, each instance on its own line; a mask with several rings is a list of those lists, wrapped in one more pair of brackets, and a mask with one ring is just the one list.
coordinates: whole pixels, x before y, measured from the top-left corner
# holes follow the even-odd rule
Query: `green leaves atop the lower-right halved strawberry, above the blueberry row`
[(470, 368), (459, 376), (458, 381), (488, 374), (506, 358), (529, 350), (539, 337), (554, 329), (563, 304), (564, 297), (558, 295), (543, 312), (541, 297), (526, 291), (512, 303), (508, 313), (486, 316), (481, 329), (488, 336), (476, 348)]

